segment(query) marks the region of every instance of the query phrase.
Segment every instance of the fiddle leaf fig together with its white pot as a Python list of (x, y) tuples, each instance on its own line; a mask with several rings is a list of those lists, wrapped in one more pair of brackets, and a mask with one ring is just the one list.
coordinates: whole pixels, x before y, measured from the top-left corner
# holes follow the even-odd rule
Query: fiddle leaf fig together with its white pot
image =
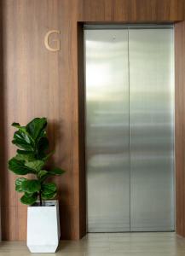
[(58, 201), (55, 183), (48, 177), (64, 173), (61, 168), (47, 168), (49, 140), (46, 134), (47, 119), (35, 118), (26, 126), (12, 124), (12, 143), (18, 147), (16, 155), (9, 160), (9, 170), (17, 175), (15, 190), (24, 193), (20, 201), (27, 208), (27, 247), (32, 253), (55, 253), (61, 236)]

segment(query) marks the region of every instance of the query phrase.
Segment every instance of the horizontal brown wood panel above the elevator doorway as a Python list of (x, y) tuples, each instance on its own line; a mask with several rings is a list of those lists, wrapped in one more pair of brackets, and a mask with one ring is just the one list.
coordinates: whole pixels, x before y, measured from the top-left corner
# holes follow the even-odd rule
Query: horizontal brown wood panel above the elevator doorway
[(83, 0), (82, 21), (149, 22), (184, 18), (183, 0)]

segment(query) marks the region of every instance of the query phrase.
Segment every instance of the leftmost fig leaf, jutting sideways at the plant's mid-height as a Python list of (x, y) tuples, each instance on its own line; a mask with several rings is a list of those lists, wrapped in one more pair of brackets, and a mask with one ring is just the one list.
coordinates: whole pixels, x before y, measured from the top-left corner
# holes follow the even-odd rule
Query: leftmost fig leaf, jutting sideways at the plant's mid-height
[(28, 173), (35, 173), (34, 170), (25, 166), (25, 161), (16, 160), (14, 157), (9, 160), (9, 170), (18, 175), (26, 175)]

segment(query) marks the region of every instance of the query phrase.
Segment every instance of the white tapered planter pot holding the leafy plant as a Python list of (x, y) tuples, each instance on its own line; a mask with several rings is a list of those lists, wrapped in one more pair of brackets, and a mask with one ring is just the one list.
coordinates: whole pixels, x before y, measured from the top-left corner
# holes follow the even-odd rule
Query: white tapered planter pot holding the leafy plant
[(55, 253), (60, 236), (58, 201), (27, 207), (27, 247), (31, 253)]

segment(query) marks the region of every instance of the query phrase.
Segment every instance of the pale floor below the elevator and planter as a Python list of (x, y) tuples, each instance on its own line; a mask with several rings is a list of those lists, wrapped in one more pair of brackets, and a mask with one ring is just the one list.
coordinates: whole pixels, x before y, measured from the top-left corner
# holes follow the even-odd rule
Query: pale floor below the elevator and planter
[[(24, 241), (3, 241), (0, 256), (27, 256)], [(185, 256), (185, 238), (175, 233), (89, 234), (80, 241), (61, 241), (61, 256)]]

